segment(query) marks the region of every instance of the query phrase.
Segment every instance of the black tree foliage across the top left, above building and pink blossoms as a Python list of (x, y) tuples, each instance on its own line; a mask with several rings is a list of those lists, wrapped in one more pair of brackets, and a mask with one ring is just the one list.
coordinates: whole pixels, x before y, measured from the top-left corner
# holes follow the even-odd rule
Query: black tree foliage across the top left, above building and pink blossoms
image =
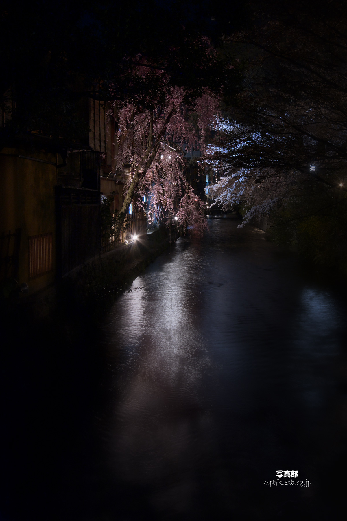
[[(223, 75), (224, 83), (229, 76), (205, 47), (246, 19), (237, 2), (5, 2), (1, 92), (16, 99), (8, 130), (78, 138), (86, 131), (81, 96), (109, 100), (110, 85), (118, 100), (160, 89), (158, 75), (153, 83), (140, 76), (134, 81), (133, 69), (144, 58), (192, 95), (204, 86), (218, 90)], [(203, 45), (202, 36), (210, 43)]]

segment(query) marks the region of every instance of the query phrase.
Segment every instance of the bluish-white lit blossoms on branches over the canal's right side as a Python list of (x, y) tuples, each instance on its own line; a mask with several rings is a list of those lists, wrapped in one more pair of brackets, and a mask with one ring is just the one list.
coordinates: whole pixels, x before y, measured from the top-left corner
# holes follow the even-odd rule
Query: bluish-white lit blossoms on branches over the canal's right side
[(217, 138), (208, 146), (205, 165), (217, 173), (219, 180), (206, 192), (211, 206), (224, 211), (242, 204), (239, 227), (253, 218), (268, 216), (274, 209), (286, 208), (300, 197), (305, 183), (318, 177), (314, 165), (292, 161), (292, 149), (278, 135), (223, 119), (217, 121), (215, 130)]

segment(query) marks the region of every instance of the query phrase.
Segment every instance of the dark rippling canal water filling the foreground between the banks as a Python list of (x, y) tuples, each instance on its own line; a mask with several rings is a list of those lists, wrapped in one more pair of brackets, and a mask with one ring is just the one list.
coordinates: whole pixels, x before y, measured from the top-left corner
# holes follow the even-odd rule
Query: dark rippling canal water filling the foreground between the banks
[(180, 238), (24, 378), (4, 519), (338, 519), (345, 290), (238, 224)]

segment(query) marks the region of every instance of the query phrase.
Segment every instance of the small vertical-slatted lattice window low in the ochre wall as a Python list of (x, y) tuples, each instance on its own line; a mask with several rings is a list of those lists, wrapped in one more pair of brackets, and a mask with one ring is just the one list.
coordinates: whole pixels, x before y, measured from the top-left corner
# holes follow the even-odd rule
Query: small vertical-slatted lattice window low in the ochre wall
[(53, 234), (29, 237), (29, 280), (53, 270)]

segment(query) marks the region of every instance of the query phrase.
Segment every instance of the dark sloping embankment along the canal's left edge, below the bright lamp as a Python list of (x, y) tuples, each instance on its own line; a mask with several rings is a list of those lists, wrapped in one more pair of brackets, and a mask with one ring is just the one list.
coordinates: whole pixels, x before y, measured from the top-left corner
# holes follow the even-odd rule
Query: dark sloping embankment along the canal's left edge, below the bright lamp
[(60, 281), (41, 292), (20, 295), (12, 302), (12, 311), (25, 311), (33, 318), (42, 318), (57, 311), (98, 315), (125, 291), (148, 264), (177, 238), (175, 231), (160, 227), (136, 241), (82, 264)]

